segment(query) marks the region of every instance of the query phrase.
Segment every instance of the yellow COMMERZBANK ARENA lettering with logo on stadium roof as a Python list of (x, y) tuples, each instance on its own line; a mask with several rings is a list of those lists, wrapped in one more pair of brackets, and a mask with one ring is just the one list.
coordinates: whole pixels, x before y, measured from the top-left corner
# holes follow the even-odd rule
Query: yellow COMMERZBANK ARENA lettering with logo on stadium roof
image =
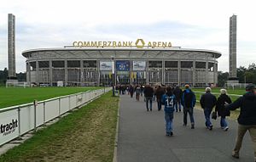
[(73, 47), (172, 47), (171, 42), (145, 42), (143, 39), (132, 41), (75, 41)]

